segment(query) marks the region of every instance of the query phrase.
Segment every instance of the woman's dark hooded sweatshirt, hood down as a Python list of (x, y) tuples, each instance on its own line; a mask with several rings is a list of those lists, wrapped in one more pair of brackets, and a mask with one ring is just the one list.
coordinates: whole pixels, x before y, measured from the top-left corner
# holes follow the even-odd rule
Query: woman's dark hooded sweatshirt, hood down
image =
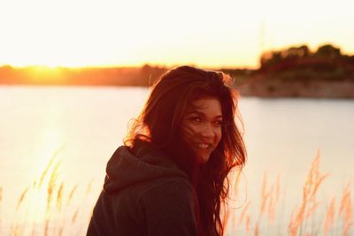
[(87, 235), (197, 235), (194, 188), (162, 152), (119, 147), (106, 172)]

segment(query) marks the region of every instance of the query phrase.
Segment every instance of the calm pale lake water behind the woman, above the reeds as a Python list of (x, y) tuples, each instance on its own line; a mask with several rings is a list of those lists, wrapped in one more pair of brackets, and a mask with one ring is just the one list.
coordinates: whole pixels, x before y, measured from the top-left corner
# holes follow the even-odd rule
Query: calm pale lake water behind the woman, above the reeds
[[(41, 177), (56, 151), (61, 162), (57, 178), (65, 183), (64, 193), (76, 184), (77, 193), (89, 192), (85, 201), (80, 194), (73, 200), (75, 207), (89, 212), (101, 189), (105, 164), (147, 95), (146, 88), (1, 86), (0, 232), (10, 231), (19, 214), (15, 209), (20, 195)], [(265, 174), (269, 186), (279, 175), (287, 215), (301, 202), (306, 173), (318, 150), (320, 171), (329, 173), (319, 198), (340, 199), (343, 187), (354, 179), (354, 100), (242, 98), (239, 104), (249, 156), (236, 207), (250, 201), (250, 211), (257, 211)], [(33, 215), (27, 213), (28, 221), (42, 224), (41, 217)], [(78, 221), (75, 227), (85, 230), (87, 217)]]

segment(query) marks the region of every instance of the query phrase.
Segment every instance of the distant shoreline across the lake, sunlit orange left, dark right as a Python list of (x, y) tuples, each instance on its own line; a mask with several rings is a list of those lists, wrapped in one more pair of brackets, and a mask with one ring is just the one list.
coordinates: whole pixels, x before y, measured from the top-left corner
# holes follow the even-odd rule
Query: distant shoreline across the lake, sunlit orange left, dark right
[[(354, 57), (282, 58), (264, 62), (259, 69), (217, 69), (235, 79), (242, 96), (354, 99)], [(0, 85), (144, 87), (153, 84), (169, 68), (13, 68), (0, 67)]]

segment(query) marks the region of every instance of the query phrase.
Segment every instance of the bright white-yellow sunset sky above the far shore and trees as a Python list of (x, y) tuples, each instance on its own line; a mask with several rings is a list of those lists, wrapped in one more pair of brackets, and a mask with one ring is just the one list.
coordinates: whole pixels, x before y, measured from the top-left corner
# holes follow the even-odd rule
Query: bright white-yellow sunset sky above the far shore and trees
[(332, 43), (354, 54), (352, 0), (0, 0), (0, 65), (258, 67)]

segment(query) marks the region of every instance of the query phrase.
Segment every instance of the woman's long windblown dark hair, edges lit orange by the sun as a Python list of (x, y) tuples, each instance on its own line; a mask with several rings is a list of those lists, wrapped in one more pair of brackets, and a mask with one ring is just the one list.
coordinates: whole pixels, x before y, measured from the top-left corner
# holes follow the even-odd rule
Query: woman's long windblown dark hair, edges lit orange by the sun
[[(227, 200), (228, 173), (235, 167), (242, 169), (246, 161), (242, 133), (235, 124), (238, 93), (229, 86), (230, 82), (231, 77), (223, 72), (191, 66), (165, 72), (152, 86), (142, 113), (125, 139), (128, 147), (133, 147), (136, 141), (150, 142), (189, 175), (196, 188), (200, 235), (223, 235), (220, 209)], [(193, 101), (210, 97), (217, 98), (221, 104), (222, 137), (209, 161), (200, 165), (181, 137), (181, 120)]]

